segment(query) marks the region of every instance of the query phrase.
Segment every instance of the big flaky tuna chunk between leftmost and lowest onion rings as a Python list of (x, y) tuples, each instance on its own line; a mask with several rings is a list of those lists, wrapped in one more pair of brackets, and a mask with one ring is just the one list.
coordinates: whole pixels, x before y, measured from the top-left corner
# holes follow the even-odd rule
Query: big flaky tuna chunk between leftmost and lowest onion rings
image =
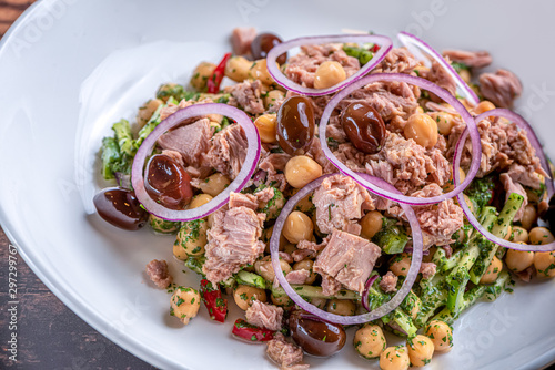
[(254, 264), (264, 251), (262, 235), (264, 215), (239, 206), (214, 214), (208, 232), (206, 261), (202, 271), (212, 284), (230, 278), (249, 264)]

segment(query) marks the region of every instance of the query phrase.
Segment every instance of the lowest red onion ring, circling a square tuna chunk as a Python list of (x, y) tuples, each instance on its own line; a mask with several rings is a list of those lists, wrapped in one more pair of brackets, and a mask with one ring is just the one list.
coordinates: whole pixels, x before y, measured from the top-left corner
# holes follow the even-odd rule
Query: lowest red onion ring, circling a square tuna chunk
[[(299, 307), (304, 309), (305, 311), (320, 317), (323, 320), (334, 322), (334, 323), (340, 323), (340, 325), (356, 325), (356, 323), (363, 323), (363, 322), (369, 322), (372, 320), (376, 320), (384, 315), (387, 315), (392, 310), (394, 310), (401, 302), (405, 299), (406, 295), (408, 291), (411, 291), (411, 288), (416, 280), (416, 277), (418, 275), (420, 266), (422, 263), (422, 250), (423, 250), (423, 241), (422, 241), (422, 232), (420, 228), (418, 220), (416, 219), (416, 215), (414, 214), (414, 210), (411, 206), (405, 205), (405, 204), (400, 204), (401, 207), (403, 207), (403, 210), (405, 212), (406, 218), (408, 219), (408, 223), (411, 224), (411, 229), (412, 229), (412, 237), (413, 237), (413, 255), (412, 255), (412, 263), (411, 267), (408, 269), (408, 273), (406, 275), (405, 281), (403, 282), (403, 286), (401, 289), (398, 289), (397, 294), (386, 304), (380, 306), (375, 310), (363, 314), (363, 315), (357, 315), (357, 316), (341, 316), (341, 315), (335, 315), (335, 314), (330, 314), (324, 310), (321, 310), (316, 306), (305, 301), (291, 285), (289, 284), (287, 279), (285, 278), (285, 275), (283, 275), (283, 271), (281, 270), (280, 267), (280, 236), (281, 232), (283, 229), (283, 225), (285, 223), (285, 219), (287, 218), (289, 214), (294, 209), (299, 201), (304, 198), (307, 194), (310, 194), (312, 191), (314, 191), (316, 187), (319, 187), (322, 182), (336, 174), (330, 174), (330, 175), (324, 175), (309, 185), (304, 186), (302, 189), (300, 189), (295, 195), (293, 195), (285, 206), (283, 207), (280, 216), (275, 220), (274, 224), (274, 230), (272, 233), (272, 238), (270, 239), (270, 254), (272, 256), (272, 267), (274, 271), (276, 271), (275, 277), (280, 281), (281, 286), (283, 287), (283, 290), (287, 294), (289, 298), (291, 298)], [(387, 188), (390, 192), (395, 193), (398, 192), (393, 187), (392, 185), (387, 184), (385, 181), (370, 176), (367, 174), (360, 174), (363, 176), (367, 182), (371, 182), (375, 184), (376, 186)], [(363, 297), (364, 299), (364, 297)]]

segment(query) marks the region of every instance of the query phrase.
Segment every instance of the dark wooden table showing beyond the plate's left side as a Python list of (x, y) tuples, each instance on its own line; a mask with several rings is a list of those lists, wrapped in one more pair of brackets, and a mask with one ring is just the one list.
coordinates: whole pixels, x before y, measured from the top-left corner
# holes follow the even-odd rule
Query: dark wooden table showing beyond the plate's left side
[[(0, 38), (34, 0), (0, 0)], [(100, 335), (65, 307), (33, 274), (23, 259), (11, 257), (17, 277), (9, 276), (10, 240), (0, 226), (0, 369), (155, 369)], [(13, 269), (13, 267), (12, 267)], [(17, 281), (18, 304), (9, 292)], [(8, 309), (17, 307), (17, 329), (10, 329)], [(8, 340), (17, 332), (17, 362)]]

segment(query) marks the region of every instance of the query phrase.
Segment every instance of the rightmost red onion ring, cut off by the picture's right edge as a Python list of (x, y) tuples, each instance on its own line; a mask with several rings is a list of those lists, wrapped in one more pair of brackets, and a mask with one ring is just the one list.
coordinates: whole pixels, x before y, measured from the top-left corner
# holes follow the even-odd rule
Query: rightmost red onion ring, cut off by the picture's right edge
[[(542, 165), (543, 166), (547, 165), (547, 168), (549, 168), (548, 164), (545, 160), (545, 155), (543, 154), (544, 152), (542, 151), (542, 146), (539, 145), (539, 142), (537, 142), (536, 135), (532, 131), (532, 127), (529, 126), (529, 124), (522, 116), (519, 116), (518, 114), (516, 114), (514, 112), (511, 112), (509, 110), (495, 109), (495, 110), (491, 110), (491, 111), (487, 111), (487, 112), (484, 112), (484, 113), (477, 115), (476, 122), (485, 120), (488, 116), (497, 116), (497, 117), (507, 119), (511, 122), (516, 123), (518, 125), (518, 127), (526, 130), (528, 133), (532, 132), (533, 140), (531, 140), (531, 137), (528, 137), (528, 140), (531, 140), (534, 147), (536, 148), (536, 153), (539, 155), (539, 160), (542, 162)], [(453, 161), (453, 174), (454, 174), (453, 182), (454, 182), (455, 186), (458, 184), (458, 181), (460, 181), (458, 167), (461, 166), (461, 157), (462, 157), (463, 150), (464, 150), (464, 143), (466, 142), (467, 136), (468, 136), (468, 132), (465, 129), (465, 131), (462, 133), (461, 137), (458, 137), (458, 142), (456, 143), (456, 146), (455, 146), (455, 157)], [(534, 143), (536, 143), (538, 146), (536, 147), (536, 145)], [(474, 156), (474, 154), (473, 154), (473, 156)], [(481, 156), (482, 156), (482, 154), (480, 155), (480, 157)], [(544, 164), (544, 162), (545, 162), (545, 164)], [(548, 171), (547, 171), (547, 173), (548, 173)], [(552, 187), (553, 187), (553, 184), (552, 184)], [(471, 223), (471, 225), (476, 230), (478, 230), (478, 233), (482, 234), (487, 240), (495, 243), (502, 247), (516, 249), (516, 250), (525, 250), (525, 251), (552, 251), (552, 250), (555, 250), (555, 241), (552, 241), (549, 244), (543, 244), (543, 245), (524, 245), (524, 244), (507, 241), (505, 239), (502, 239), (502, 238), (493, 235), (492, 233), (490, 233), (485, 227), (483, 227), (480, 224), (480, 222), (476, 219), (474, 214), (471, 212), (471, 209), (466, 205), (466, 202), (464, 201), (463, 193), (458, 194), (456, 196), (456, 198), (458, 201), (458, 205), (463, 208), (463, 212), (464, 212), (466, 218), (468, 219), (468, 222)]]

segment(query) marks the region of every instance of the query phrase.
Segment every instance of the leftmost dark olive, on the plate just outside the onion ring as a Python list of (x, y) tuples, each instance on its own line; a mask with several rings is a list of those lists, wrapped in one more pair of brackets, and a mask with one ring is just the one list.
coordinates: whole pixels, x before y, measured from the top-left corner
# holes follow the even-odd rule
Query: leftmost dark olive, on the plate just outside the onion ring
[(93, 198), (94, 207), (105, 222), (113, 226), (137, 230), (147, 224), (149, 213), (144, 210), (133, 192), (110, 187)]

